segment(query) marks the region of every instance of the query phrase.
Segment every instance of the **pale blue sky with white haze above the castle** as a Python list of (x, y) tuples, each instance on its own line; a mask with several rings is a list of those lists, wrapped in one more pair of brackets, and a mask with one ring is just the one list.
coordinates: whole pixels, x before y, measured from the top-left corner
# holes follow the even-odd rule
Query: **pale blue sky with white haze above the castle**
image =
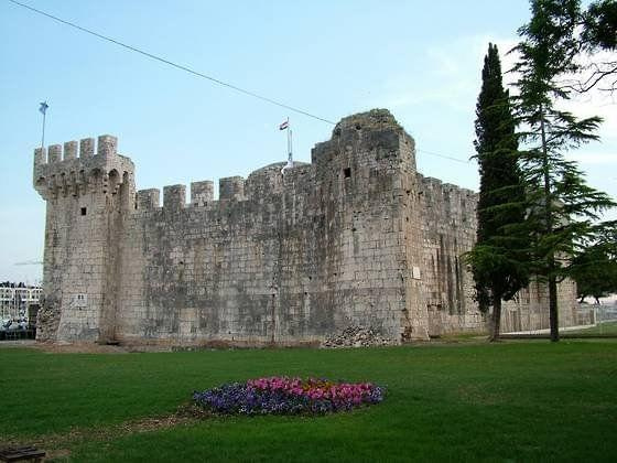
[[(529, 19), (527, 0), (21, 1), (331, 121), (388, 108), (415, 139), (420, 172), (473, 190), (483, 57), (488, 42), (504, 55)], [(0, 281), (34, 283), (42, 273), (15, 265), (43, 257), (45, 202), (32, 187), (40, 101), (50, 105), (45, 144), (113, 134), (140, 190), (217, 184), (284, 161), (278, 126), (288, 117), (299, 161), (310, 162), (333, 129), (8, 0), (0, 60)], [(512, 60), (502, 56), (505, 69)], [(615, 101), (586, 96), (570, 109), (605, 118), (602, 142), (572, 158), (592, 186), (617, 197)]]

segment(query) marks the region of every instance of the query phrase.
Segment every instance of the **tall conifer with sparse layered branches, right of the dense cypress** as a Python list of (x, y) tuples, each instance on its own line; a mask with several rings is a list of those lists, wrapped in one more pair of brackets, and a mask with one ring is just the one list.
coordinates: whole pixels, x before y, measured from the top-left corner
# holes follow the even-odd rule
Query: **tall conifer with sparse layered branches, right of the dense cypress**
[(578, 120), (560, 110), (570, 99), (560, 78), (576, 71), (578, 0), (532, 0), (531, 20), (519, 30), (515, 47), (520, 58), (515, 99), (520, 152), (526, 175), (528, 216), (524, 226), (532, 238), (532, 270), (548, 283), (551, 341), (559, 341), (558, 282), (567, 277), (570, 259), (594, 241), (611, 224), (598, 223), (614, 206), (604, 193), (586, 185), (575, 163), (564, 153), (597, 140), (602, 119)]

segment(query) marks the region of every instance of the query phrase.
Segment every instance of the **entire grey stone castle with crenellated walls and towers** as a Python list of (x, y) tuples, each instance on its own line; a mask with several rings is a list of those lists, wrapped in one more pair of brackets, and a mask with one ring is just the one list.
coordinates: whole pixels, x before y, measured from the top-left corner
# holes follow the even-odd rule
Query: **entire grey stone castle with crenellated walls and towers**
[[(36, 149), (37, 340), (316, 345), (370, 326), (398, 344), (484, 329), (461, 260), (474, 192), (418, 173), (387, 110), (344, 118), (311, 158), (220, 179), (216, 201), (210, 181), (191, 184), (188, 204), (184, 185), (165, 186), (161, 206), (159, 190), (136, 192), (115, 137), (96, 153), (94, 139)], [(529, 294), (540, 302), (528, 291), (513, 310)]]

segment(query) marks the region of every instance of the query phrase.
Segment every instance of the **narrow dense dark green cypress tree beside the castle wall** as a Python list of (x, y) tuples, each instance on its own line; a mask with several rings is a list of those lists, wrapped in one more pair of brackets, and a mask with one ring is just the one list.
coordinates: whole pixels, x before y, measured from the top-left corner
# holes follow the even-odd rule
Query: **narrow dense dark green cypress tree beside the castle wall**
[(488, 44), (476, 105), (476, 158), (480, 174), (477, 241), (466, 255), (480, 310), (492, 306), (490, 341), (499, 338), (501, 300), (529, 283), (526, 237), (511, 233), (524, 219), (524, 187), (509, 95), (504, 89), (497, 46)]

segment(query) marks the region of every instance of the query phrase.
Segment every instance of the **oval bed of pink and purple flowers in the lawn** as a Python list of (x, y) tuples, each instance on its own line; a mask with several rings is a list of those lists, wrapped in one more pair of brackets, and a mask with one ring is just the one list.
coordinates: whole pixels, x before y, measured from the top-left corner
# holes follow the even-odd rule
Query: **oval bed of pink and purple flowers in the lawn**
[(383, 388), (371, 383), (273, 376), (196, 391), (193, 400), (206, 410), (226, 414), (327, 413), (379, 403)]

